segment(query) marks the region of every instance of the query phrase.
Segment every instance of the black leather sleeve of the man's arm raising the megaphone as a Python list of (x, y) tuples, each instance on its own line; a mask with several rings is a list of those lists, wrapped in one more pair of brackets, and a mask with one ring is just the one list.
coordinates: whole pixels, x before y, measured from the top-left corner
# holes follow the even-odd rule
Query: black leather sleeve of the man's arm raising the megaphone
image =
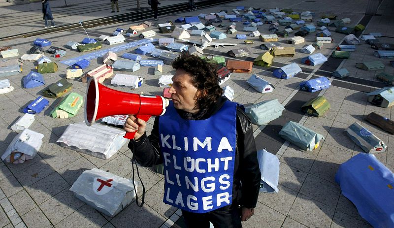
[(153, 166), (163, 163), (159, 143), (159, 117), (156, 117), (151, 135), (147, 136), (145, 132), (137, 142), (130, 140), (128, 146), (137, 163), (142, 166)]

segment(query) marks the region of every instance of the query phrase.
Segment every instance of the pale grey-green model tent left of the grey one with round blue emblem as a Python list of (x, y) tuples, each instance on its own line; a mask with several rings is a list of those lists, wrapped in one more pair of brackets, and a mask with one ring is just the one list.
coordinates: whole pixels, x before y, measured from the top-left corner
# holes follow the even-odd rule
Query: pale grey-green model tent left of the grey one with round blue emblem
[(312, 151), (319, 147), (323, 135), (293, 121), (289, 121), (279, 131), (279, 135), (302, 150)]

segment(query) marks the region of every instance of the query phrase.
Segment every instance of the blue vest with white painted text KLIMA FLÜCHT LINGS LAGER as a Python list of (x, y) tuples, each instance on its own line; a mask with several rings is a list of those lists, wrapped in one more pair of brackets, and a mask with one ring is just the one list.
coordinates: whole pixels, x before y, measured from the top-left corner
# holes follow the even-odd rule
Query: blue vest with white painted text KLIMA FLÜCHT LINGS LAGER
[(169, 103), (159, 119), (164, 203), (194, 213), (231, 204), (236, 105), (226, 101), (206, 120), (185, 120)]

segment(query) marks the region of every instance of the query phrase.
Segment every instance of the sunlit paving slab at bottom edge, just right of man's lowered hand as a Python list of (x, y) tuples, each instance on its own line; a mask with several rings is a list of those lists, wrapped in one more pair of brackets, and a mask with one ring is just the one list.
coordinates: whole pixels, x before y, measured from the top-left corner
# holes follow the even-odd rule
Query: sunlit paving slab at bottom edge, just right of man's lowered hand
[(246, 222), (242, 222), (245, 228), (280, 228), (286, 216), (258, 202), (254, 215)]

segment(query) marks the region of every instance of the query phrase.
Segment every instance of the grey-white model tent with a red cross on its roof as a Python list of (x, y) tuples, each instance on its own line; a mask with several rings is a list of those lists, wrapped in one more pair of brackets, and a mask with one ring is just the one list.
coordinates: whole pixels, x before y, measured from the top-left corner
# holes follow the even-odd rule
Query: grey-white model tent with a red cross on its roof
[(133, 201), (136, 188), (137, 184), (130, 179), (94, 168), (84, 171), (70, 191), (89, 206), (112, 217)]

